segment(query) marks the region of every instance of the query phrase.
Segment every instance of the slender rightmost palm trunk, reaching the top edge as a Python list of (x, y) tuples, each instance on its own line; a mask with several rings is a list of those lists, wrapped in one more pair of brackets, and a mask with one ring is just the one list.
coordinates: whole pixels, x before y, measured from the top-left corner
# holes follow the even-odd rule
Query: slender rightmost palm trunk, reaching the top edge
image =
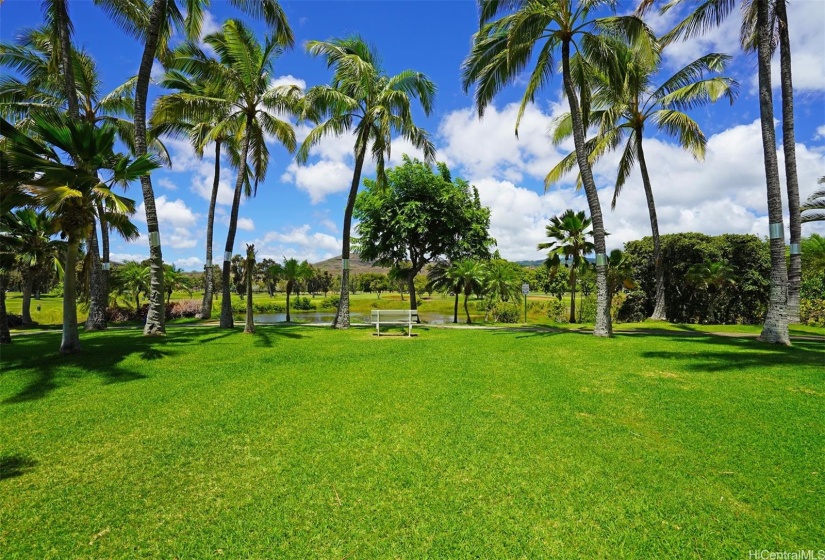
[(788, 188), (788, 213), (791, 226), (791, 262), (788, 269), (788, 322), (799, 323), (799, 291), (802, 283), (802, 218), (799, 212), (799, 179), (796, 174), (796, 139), (794, 138), (793, 79), (791, 76), (791, 41), (785, 0), (776, 0), (779, 22), (779, 75), (782, 83), (782, 147), (785, 151), (785, 182)]

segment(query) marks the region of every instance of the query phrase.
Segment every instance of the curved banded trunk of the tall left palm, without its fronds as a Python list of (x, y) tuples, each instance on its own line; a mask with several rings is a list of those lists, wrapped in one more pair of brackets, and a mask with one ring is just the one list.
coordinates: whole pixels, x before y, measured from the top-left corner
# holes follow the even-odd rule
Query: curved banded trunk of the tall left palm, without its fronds
[[(166, 18), (168, 0), (154, 0), (149, 13), (149, 27), (146, 30), (146, 44), (140, 59), (137, 83), (135, 84), (135, 155), (146, 154), (146, 97), (149, 93), (149, 78), (160, 37), (160, 27)], [(160, 228), (155, 208), (155, 192), (149, 175), (140, 178), (143, 189), (143, 204), (146, 208), (146, 229), (149, 233), (149, 310), (143, 334), (156, 336), (166, 333), (166, 310), (163, 305), (163, 253), (160, 247)]]

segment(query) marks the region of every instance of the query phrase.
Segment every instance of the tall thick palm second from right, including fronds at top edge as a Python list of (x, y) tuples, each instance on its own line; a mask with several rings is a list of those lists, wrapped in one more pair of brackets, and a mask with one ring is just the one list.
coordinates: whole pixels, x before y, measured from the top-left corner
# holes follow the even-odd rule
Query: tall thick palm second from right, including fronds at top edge
[[(662, 7), (662, 11), (672, 9), (681, 4), (684, 0), (671, 0)], [(782, 218), (782, 190), (779, 182), (779, 163), (776, 157), (776, 130), (773, 126), (773, 91), (771, 87), (771, 53), (774, 48), (774, 17), (776, 16), (776, 4), (782, 2), (779, 9), (784, 14), (784, 0), (752, 0), (750, 15), (745, 11), (745, 25), (743, 26), (743, 42), (748, 42), (747, 37), (751, 37), (751, 44), (756, 44), (757, 68), (759, 81), (759, 117), (762, 126), (762, 152), (765, 163), (765, 183), (767, 187), (768, 200), (768, 222), (771, 248), (771, 291), (768, 302), (768, 312), (765, 315), (765, 324), (759, 340), (773, 344), (789, 346), (791, 343), (788, 334), (788, 269), (785, 259), (785, 229)], [(655, 3), (655, 0), (642, 0), (640, 11), (643, 11)], [(725, 18), (733, 12), (736, 0), (703, 0), (700, 4), (692, 6), (692, 11), (680, 21), (676, 26), (666, 33), (662, 40), (667, 44), (672, 41), (691, 39), (706, 32), (713, 27), (720, 25)], [(752, 24), (748, 23), (748, 18)], [(778, 21), (778, 20), (777, 20)], [(787, 17), (784, 23), (787, 30)], [(781, 41), (780, 41), (781, 42)], [(792, 116), (792, 93), (793, 86), (790, 83), (790, 46), (785, 57), (781, 57), (780, 63), (784, 60), (788, 67), (781, 71), (783, 85), (783, 104), (789, 109), (789, 114), (783, 111), (783, 121), (788, 121), (790, 128), (793, 128)], [(780, 47), (781, 48), (781, 47)], [(781, 70), (781, 68), (780, 68)], [(790, 116), (790, 119), (788, 118)], [(788, 134), (789, 131), (784, 132)], [(789, 138), (793, 138), (789, 134)], [(786, 158), (792, 154), (786, 154)], [(795, 175), (795, 163), (793, 164)], [(787, 168), (786, 168), (787, 170)], [(798, 199), (798, 189), (797, 189)], [(793, 193), (789, 193), (789, 198)], [(801, 230), (800, 230), (801, 232)], [(800, 233), (801, 235), (801, 233)]]

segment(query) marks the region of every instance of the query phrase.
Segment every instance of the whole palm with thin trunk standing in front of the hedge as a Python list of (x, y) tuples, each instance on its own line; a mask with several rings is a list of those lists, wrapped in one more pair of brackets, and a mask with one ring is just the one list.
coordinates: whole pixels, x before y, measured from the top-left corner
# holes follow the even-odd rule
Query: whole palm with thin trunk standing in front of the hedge
[[(594, 109), (591, 110), (589, 120), (599, 127), (596, 136), (586, 146), (590, 163), (595, 165), (605, 153), (624, 145), (611, 209), (616, 208), (622, 187), (636, 161), (639, 162), (653, 235), (656, 293), (651, 319), (666, 321), (659, 221), (642, 141), (645, 125), (654, 124), (658, 131), (674, 138), (682, 149), (690, 152), (697, 160), (702, 160), (707, 143), (705, 135), (685, 111), (715, 102), (722, 96), (728, 97), (733, 103), (737, 83), (722, 76), (706, 77), (706, 74), (723, 71), (730, 60), (727, 55), (713, 53), (691, 62), (657, 85), (655, 78), (660, 68), (658, 56), (651, 61), (637, 56), (636, 49), (621, 41), (608, 40), (608, 44), (610, 49), (606, 52), (597, 50), (589, 53), (587, 60), (580, 57), (575, 60), (576, 65), (588, 67), (589, 71), (576, 73), (586, 82), (577, 85), (579, 89), (589, 88), (593, 92)], [(553, 142), (559, 144), (570, 134), (572, 126), (568, 113), (556, 121)], [(572, 152), (548, 173), (545, 187), (560, 180), (575, 165), (576, 153)]]

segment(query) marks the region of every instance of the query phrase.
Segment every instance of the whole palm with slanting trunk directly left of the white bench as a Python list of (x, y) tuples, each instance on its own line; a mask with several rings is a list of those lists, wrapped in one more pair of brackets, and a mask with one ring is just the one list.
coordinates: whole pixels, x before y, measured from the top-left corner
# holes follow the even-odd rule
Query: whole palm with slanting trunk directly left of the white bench
[[(325, 136), (355, 133), (355, 168), (347, 207), (344, 211), (341, 246), (341, 297), (333, 326), (349, 328), (350, 226), (355, 196), (361, 183), (367, 150), (376, 162), (377, 183), (383, 186), (384, 162), (390, 157), (392, 134), (399, 134), (424, 152), (427, 163), (435, 161), (435, 147), (428, 134), (412, 119), (410, 99), (418, 99), (424, 114), (432, 112), (435, 84), (427, 76), (405, 70), (387, 76), (377, 51), (358, 36), (329, 41), (309, 41), (307, 51), (321, 56), (333, 68), (332, 84), (315, 86), (306, 95), (304, 116), (326, 119), (315, 127), (298, 150), (297, 160), (305, 163), (310, 149)], [(357, 122), (357, 124), (355, 124)]]

